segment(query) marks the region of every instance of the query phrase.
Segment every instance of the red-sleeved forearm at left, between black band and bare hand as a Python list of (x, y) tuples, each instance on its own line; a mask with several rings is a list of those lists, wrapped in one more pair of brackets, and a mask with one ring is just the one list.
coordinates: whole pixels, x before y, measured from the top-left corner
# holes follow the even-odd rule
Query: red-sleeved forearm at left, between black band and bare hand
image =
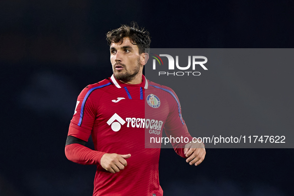
[(98, 165), (104, 154), (104, 152), (92, 150), (77, 143), (65, 146), (65, 155), (67, 159), (82, 165)]

